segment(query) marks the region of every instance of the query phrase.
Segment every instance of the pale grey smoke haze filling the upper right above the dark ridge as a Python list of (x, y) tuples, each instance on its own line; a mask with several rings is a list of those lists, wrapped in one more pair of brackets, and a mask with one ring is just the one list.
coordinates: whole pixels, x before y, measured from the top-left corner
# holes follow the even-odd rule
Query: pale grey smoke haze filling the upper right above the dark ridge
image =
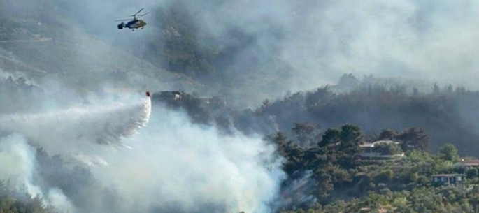
[(343, 73), (473, 86), (479, 68), (474, 57), (479, 50), (478, 4), (227, 1), (207, 4), (210, 10), (192, 8), (212, 34), (221, 35), (234, 26), (257, 35), (256, 51), (287, 61), (295, 69), (287, 86), (303, 89), (336, 82)]

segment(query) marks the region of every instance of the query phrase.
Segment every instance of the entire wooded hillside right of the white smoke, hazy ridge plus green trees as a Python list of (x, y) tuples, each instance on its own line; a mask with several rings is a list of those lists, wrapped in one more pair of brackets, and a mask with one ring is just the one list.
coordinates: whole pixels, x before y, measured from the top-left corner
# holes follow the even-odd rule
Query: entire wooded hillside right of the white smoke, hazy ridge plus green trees
[[(183, 109), (194, 122), (225, 133), (236, 128), (269, 134), (266, 140), (286, 159), (283, 212), (477, 211), (477, 168), (454, 164), (478, 157), (471, 120), (478, 92), (436, 83), (427, 92), (359, 81), (349, 89), (340, 86), (266, 99), (243, 111), (219, 97), (184, 91), (177, 98), (169, 92), (154, 94), (153, 101)], [(386, 161), (355, 158), (362, 152), (360, 145), (380, 140), (398, 144), (377, 146), (376, 152), (406, 155)], [(433, 175), (453, 173), (464, 173), (466, 185), (432, 182)]]

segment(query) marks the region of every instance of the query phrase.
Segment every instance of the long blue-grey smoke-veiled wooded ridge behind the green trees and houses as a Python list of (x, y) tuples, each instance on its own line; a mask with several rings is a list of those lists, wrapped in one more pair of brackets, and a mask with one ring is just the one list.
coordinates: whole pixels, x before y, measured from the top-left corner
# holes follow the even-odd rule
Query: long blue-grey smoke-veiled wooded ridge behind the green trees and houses
[(204, 98), (191, 94), (184, 94), (183, 101), (171, 104), (183, 106), (196, 122), (216, 123), (223, 129), (234, 127), (244, 133), (283, 131), (292, 136), (298, 124), (317, 126), (319, 131), (355, 124), (368, 135), (378, 135), (384, 129), (403, 131), (417, 127), (431, 138), (428, 148), (431, 152), (452, 143), (460, 154), (477, 155), (474, 146), (478, 142), (474, 122), (479, 107), (477, 91), (469, 91), (461, 85), (436, 83), (428, 91), (406, 85), (357, 83), (347, 90), (339, 89), (341, 84), (338, 84), (271, 101), (266, 98), (258, 107), (245, 110), (231, 108), (224, 97), (214, 97), (210, 103), (203, 104)]

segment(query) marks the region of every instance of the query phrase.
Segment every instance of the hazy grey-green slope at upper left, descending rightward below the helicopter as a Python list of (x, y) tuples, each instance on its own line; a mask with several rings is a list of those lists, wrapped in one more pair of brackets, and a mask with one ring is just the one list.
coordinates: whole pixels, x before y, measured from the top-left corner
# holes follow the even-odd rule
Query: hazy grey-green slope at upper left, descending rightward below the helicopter
[[(35, 6), (16, 1), (2, 4), (0, 60), (4, 72), (38, 83), (56, 79), (80, 92), (98, 91), (106, 85), (138, 91), (147, 85), (155, 90), (201, 88), (191, 78), (153, 66), (130, 52), (128, 48), (136, 44), (117, 47), (88, 33), (67, 16), (69, 10), (59, 8), (60, 1), (38, 1)], [(114, 29), (115, 22), (108, 24)]]

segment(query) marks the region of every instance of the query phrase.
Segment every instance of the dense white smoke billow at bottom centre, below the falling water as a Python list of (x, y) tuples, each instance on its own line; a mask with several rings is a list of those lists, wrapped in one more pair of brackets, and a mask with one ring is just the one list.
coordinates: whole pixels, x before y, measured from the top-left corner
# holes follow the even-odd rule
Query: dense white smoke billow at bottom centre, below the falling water
[(125, 141), (131, 150), (104, 152), (108, 168), (92, 169), (121, 195), (136, 195), (124, 212), (164, 212), (172, 204), (175, 212), (271, 212), (284, 177), (275, 147), (155, 110), (141, 135)]

